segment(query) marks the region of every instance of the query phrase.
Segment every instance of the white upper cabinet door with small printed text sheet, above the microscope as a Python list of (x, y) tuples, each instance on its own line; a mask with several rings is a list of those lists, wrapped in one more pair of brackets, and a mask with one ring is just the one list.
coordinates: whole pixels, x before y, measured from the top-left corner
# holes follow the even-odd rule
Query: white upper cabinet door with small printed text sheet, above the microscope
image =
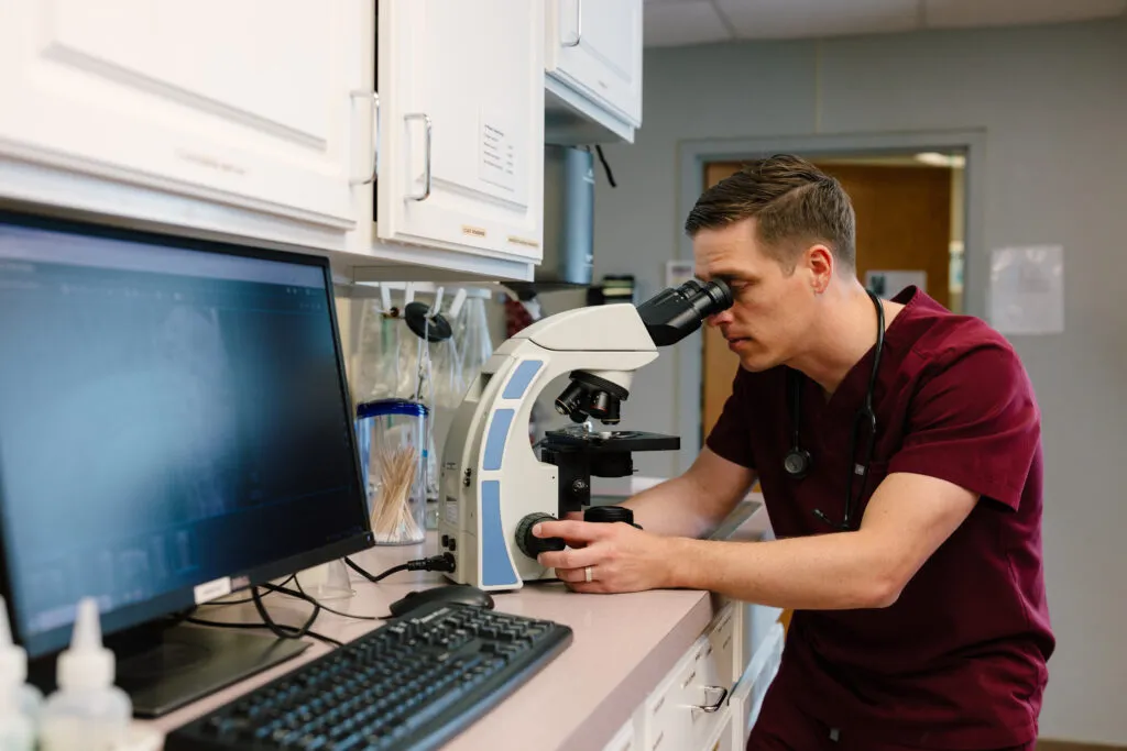
[(379, 238), (542, 258), (543, 5), (380, 2)]

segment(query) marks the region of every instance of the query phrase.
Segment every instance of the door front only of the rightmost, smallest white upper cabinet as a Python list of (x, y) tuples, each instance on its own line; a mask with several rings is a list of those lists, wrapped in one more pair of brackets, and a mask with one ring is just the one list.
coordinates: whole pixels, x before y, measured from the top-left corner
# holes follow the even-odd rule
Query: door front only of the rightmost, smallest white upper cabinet
[(554, 0), (548, 72), (641, 125), (642, 0)]

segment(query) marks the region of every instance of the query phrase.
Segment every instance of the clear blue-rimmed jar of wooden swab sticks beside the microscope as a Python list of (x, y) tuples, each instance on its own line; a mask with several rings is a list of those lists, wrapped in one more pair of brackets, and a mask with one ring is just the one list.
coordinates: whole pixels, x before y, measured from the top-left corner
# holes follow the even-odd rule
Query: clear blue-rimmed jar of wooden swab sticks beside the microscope
[(378, 545), (421, 543), (426, 535), (426, 405), (379, 399), (356, 408), (356, 433)]

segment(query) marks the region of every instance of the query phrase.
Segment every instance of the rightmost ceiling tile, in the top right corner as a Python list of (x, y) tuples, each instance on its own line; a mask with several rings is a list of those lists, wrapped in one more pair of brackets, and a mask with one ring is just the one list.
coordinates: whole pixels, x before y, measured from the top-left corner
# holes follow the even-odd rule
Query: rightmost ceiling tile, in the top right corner
[(1127, 11), (1127, 0), (925, 0), (926, 26), (967, 27), (1108, 18)]

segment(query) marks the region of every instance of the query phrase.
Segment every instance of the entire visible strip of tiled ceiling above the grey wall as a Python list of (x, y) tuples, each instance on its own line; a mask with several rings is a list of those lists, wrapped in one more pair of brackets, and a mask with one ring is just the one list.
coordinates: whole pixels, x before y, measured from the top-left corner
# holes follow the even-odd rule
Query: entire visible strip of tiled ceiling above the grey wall
[(1127, 15), (1127, 0), (645, 0), (647, 47), (1018, 26)]

